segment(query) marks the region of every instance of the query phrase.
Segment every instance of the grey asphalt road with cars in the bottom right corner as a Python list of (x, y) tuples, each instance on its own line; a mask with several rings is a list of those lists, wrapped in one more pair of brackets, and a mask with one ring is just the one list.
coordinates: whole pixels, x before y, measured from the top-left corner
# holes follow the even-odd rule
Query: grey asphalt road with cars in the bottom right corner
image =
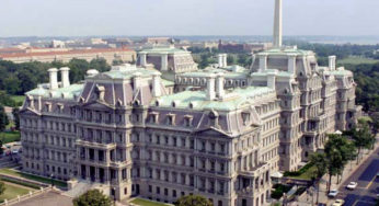
[[(337, 198), (345, 199), (345, 206), (375, 205), (379, 194), (379, 148), (340, 186)], [(354, 191), (346, 190), (349, 182), (357, 182)]]

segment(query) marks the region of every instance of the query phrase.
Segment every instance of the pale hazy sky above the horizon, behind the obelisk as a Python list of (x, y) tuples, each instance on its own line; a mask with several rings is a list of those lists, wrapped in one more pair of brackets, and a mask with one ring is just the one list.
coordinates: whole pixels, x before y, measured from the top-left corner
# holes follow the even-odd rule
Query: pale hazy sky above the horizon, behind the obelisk
[[(379, 35), (379, 0), (283, 0), (285, 35)], [(0, 36), (271, 35), (274, 0), (0, 0)]]

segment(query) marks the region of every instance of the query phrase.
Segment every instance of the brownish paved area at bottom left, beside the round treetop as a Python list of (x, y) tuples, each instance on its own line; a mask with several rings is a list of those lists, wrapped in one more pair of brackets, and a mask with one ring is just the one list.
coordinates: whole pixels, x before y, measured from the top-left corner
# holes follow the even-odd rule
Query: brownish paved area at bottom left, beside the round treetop
[(72, 206), (72, 198), (50, 191), (14, 204), (14, 206)]

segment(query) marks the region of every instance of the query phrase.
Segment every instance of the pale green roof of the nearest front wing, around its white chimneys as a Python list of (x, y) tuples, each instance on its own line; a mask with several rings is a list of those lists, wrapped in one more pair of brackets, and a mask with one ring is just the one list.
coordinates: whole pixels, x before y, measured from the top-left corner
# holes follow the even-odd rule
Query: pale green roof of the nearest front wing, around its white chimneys
[(160, 107), (172, 107), (175, 103), (177, 108), (190, 108), (190, 103), (193, 105), (191, 110), (216, 110), (216, 111), (236, 111), (252, 101), (254, 96), (267, 94), (274, 90), (267, 87), (249, 87), (246, 89), (234, 89), (227, 91), (225, 100), (207, 100), (205, 91), (184, 91), (171, 95), (157, 98), (151, 102), (151, 106), (156, 106), (159, 102)]

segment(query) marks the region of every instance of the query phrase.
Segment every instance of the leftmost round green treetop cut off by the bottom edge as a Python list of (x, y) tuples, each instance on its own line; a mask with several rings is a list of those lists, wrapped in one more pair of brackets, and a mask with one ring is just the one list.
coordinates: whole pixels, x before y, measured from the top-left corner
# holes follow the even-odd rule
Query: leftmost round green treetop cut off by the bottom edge
[(99, 190), (90, 190), (72, 201), (73, 206), (111, 206), (112, 201)]

